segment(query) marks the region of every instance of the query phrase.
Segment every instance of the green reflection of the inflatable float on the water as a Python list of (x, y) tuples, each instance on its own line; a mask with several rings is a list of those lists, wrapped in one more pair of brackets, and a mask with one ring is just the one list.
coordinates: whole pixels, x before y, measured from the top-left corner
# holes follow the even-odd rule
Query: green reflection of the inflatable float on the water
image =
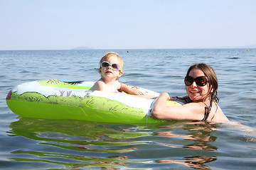
[[(100, 166), (105, 169), (115, 169), (119, 166), (127, 166), (129, 164), (125, 160), (128, 157), (122, 154), (137, 149), (132, 146), (139, 142), (125, 142), (122, 139), (147, 135), (142, 132), (130, 132), (125, 130), (124, 126), (119, 128), (118, 125), (74, 120), (20, 118), (11, 123), (10, 128), (10, 136), (23, 136), (36, 142), (36, 145), (46, 146), (43, 149), (46, 152), (38, 149), (31, 151), (32, 146), (28, 149), (24, 146), (12, 152), (16, 157), (10, 159), (58, 164), (70, 168)], [(109, 156), (110, 154), (112, 156)]]

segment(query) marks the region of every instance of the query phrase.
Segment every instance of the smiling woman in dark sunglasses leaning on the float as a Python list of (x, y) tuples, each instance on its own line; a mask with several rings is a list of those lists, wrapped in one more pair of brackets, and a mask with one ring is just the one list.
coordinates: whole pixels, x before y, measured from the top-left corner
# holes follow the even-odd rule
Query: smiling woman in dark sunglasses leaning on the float
[[(218, 79), (212, 67), (205, 63), (192, 65), (184, 79), (188, 96), (170, 98), (163, 93), (152, 105), (151, 115), (162, 120), (196, 120), (228, 122), (218, 106)], [(178, 100), (183, 106), (166, 106), (166, 100)]]

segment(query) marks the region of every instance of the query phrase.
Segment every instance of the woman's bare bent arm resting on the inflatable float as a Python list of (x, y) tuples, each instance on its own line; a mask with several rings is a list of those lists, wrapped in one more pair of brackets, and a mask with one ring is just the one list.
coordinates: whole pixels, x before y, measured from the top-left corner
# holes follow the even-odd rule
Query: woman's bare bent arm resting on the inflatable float
[(183, 106), (166, 106), (169, 94), (163, 93), (152, 105), (151, 115), (161, 120), (202, 120), (204, 104), (188, 103)]

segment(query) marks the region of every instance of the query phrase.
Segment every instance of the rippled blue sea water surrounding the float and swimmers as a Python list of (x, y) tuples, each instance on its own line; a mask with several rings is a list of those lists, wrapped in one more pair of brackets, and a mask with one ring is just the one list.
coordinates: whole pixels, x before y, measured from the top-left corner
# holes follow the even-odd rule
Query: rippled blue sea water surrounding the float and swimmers
[[(219, 105), (233, 124), (106, 124), (18, 118), (11, 88), (38, 79), (97, 81), (106, 52), (124, 60), (119, 81), (185, 96), (191, 64), (218, 76)], [(0, 51), (0, 169), (255, 169), (256, 49)]]

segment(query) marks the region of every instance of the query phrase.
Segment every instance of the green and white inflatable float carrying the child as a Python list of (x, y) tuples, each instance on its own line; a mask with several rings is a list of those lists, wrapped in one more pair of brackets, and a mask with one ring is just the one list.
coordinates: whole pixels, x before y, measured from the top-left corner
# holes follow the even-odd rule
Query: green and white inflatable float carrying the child
[[(15, 86), (6, 103), (17, 115), (26, 118), (73, 119), (100, 123), (162, 123), (150, 116), (149, 98), (105, 91), (88, 91), (92, 81), (46, 79)], [(138, 88), (138, 87), (134, 87)], [(142, 93), (158, 96), (148, 89)], [(169, 105), (181, 106), (176, 101)]]

